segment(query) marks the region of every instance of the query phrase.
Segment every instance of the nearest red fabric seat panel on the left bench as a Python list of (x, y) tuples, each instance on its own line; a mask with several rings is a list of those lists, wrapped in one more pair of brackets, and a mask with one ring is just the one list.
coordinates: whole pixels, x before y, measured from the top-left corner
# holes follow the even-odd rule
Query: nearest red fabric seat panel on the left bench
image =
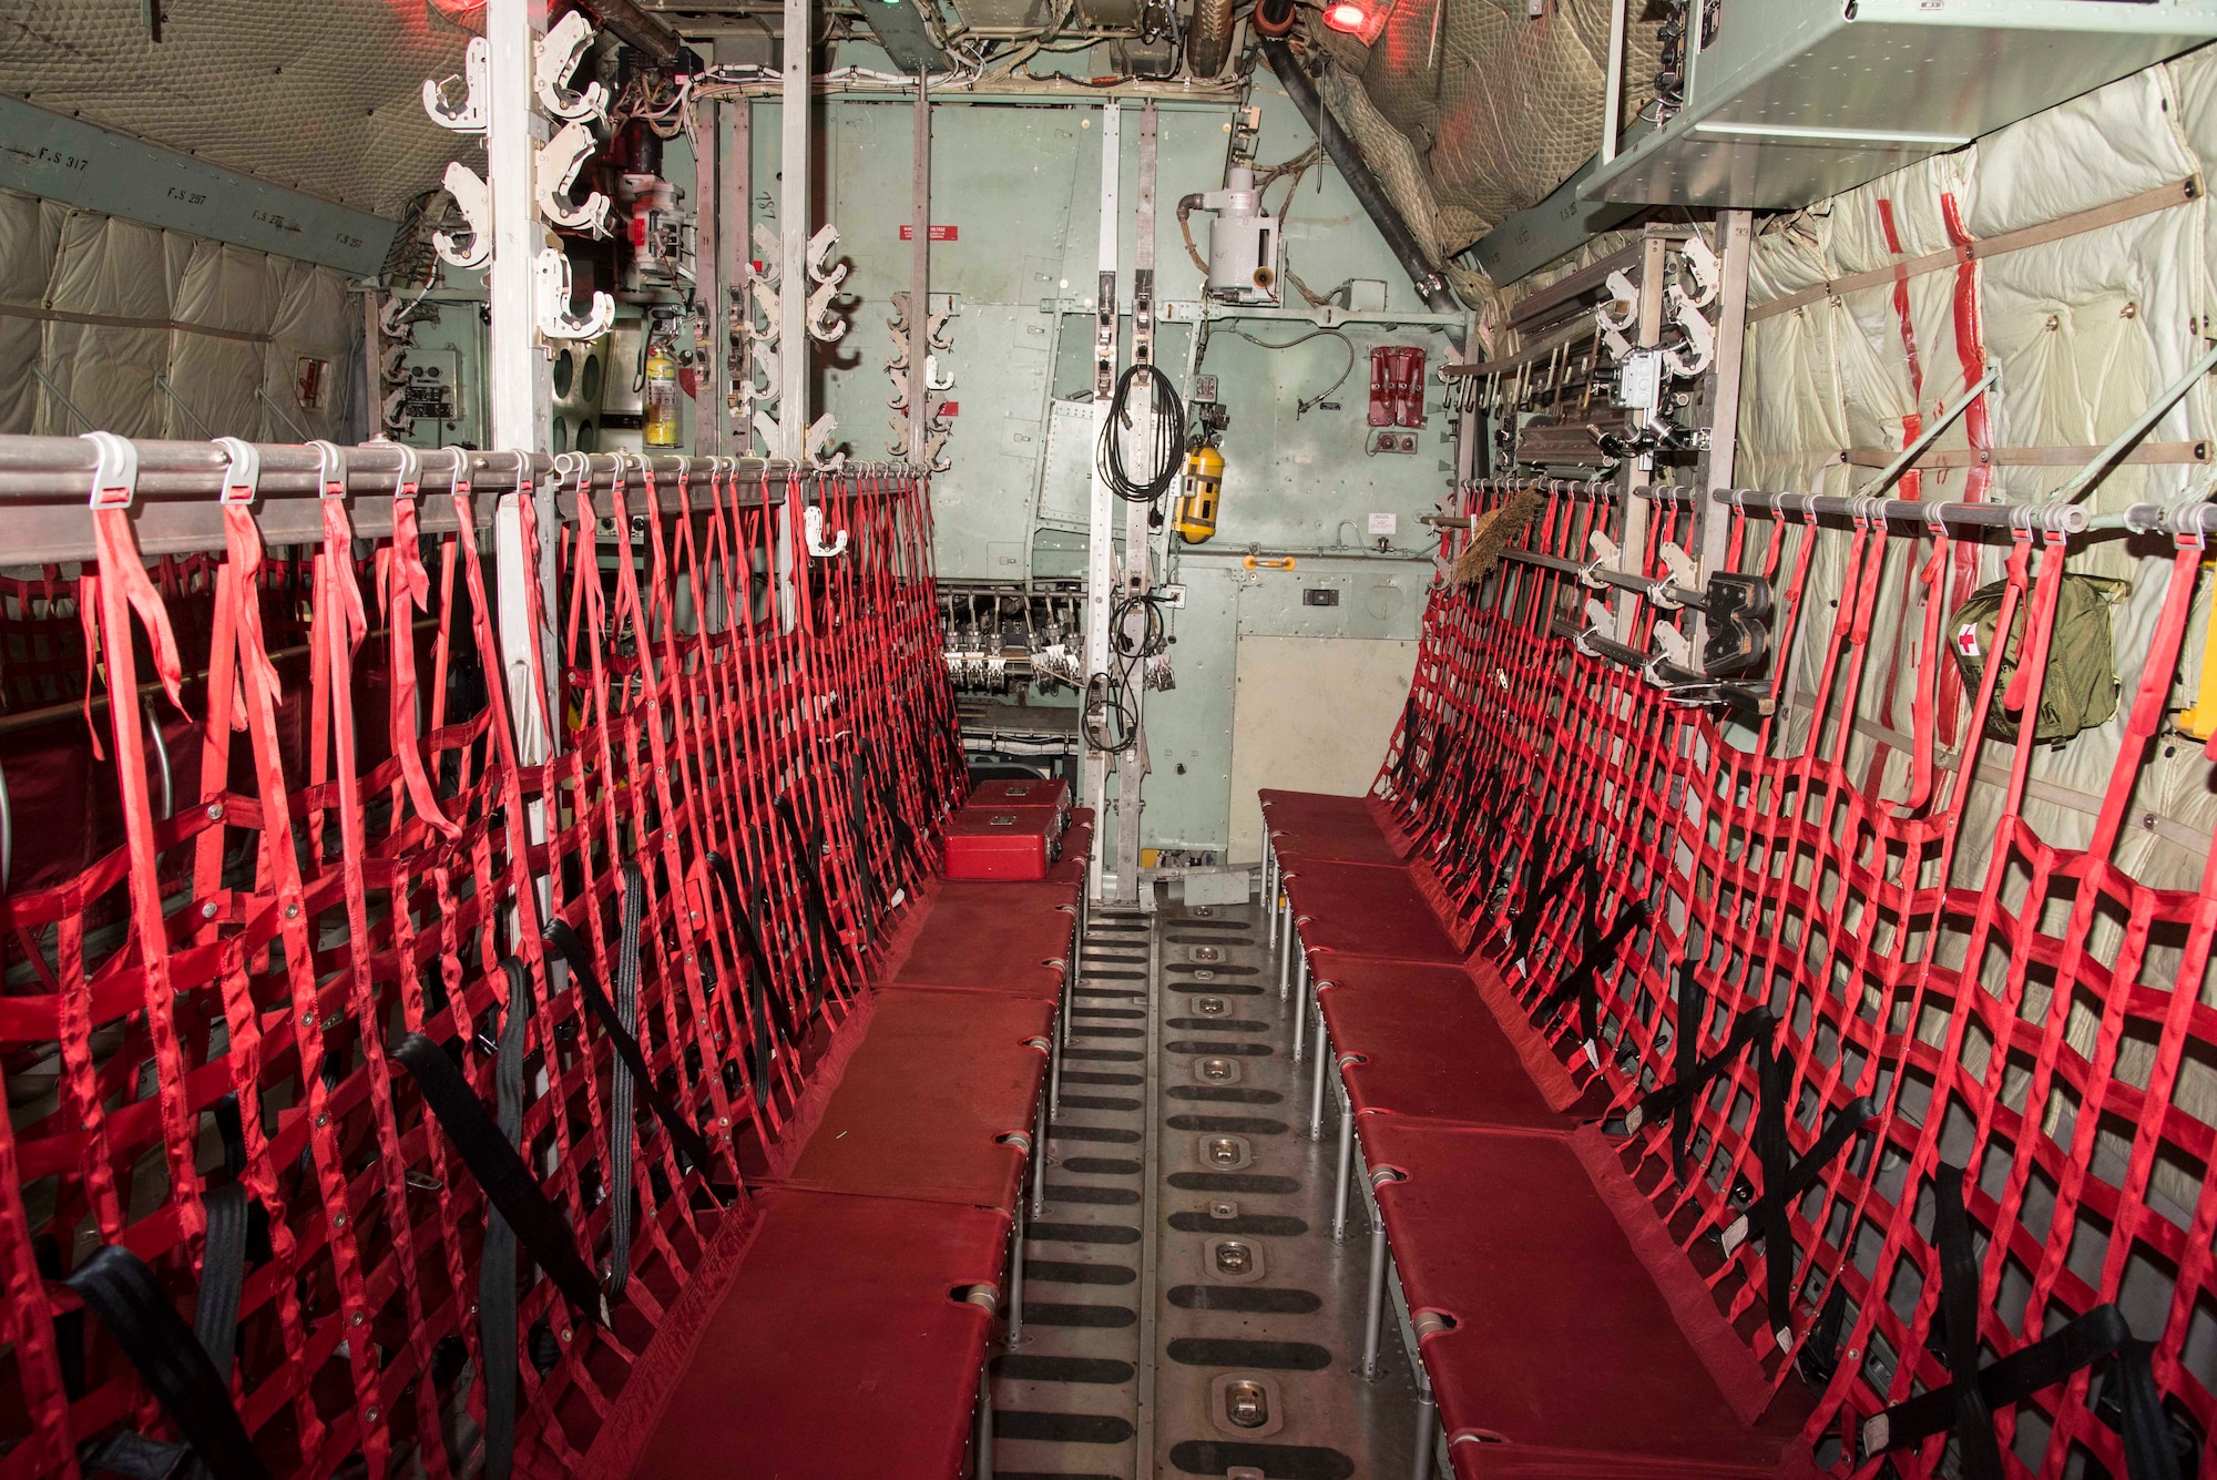
[(769, 1188), (763, 1223), (632, 1476), (947, 1480), (975, 1429), (1009, 1219)]

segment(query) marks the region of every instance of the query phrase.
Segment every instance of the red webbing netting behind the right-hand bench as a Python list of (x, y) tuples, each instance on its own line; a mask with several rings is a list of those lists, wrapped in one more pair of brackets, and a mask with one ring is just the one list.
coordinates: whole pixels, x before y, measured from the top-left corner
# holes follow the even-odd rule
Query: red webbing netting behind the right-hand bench
[[(1820, 1394), (1822, 1464), (2126, 1476), (2131, 1438), (2208, 1473), (2217, 864), (2190, 840), (2199, 888), (2182, 888), (2177, 860), (2150, 873), (2148, 849), (2119, 849), (2177, 744), (2162, 731), (2199, 538), (2177, 541), (2115, 767), (2066, 849), (2026, 820), (2040, 747), (1989, 727), (2040, 711), (2064, 536), (1998, 530), (1980, 552), (1975, 532), (1878, 514), (1731, 510), (1727, 569), (1771, 583), (1782, 656), (1725, 711), (1574, 643), (1590, 600), (1623, 600), (1579, 580), (1590, 534), (1623, 527), (1614, 487), (1479, 483), (1461, 512), (1528, 487), (1541, 510), (1499, 574), (1434, 592), (1375, 789), (1443, 917), (1477, 933), (1479, 970), (1554, 1046), (1774, 1385)], [(1663, 569), (1663, 541), (1692, 543), (1672, 499), (1641, 569)], [(1955, 674), (1933, 605), (1902, 678), (1915, 733), (1873, 744), (1858, 700), (1893, 682), (1869, 662), (1873, 625), (1955, 554), (2000, 565), (1998, 631), (2022, 607), (2022, 660), (1984, 665), (1942, 749)], [(1809, 596), (1818, 561), (1833, 605)], [(1656, 651), (1654, 607), (1632, 609), (1623, 643)], [(1991, 1422), (1958, 1402), (1980, 1365)], [(1982, 1422), (2002, 1469), (1960, 1458)]]

